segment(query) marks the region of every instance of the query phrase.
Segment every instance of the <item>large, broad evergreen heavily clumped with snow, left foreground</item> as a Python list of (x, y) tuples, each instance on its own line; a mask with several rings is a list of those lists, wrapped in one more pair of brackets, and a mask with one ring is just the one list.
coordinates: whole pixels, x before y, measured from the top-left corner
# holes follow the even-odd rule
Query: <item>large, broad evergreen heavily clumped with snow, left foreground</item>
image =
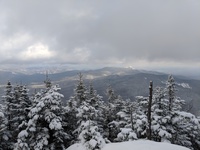
[(35, 95), (27, 128), (18, 135), (15, 149), (65, 149), (68, 134), (62, 127), (63, 97), (58, 85)]

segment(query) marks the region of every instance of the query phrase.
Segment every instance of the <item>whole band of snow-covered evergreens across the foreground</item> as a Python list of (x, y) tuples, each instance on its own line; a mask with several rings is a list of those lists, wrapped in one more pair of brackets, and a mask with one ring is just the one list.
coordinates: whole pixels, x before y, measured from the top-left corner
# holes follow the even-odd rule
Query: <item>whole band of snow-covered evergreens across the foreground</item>
[(95, 150), (105, 143), (148, 138), (199, 150), (200, 118), (182, 109), (173, 76), (164, 87), (151, 83), (144, 87), (152, 88), (149, 97), (123, 99), (108, 86), (103, 101), (92, 82), (85, 86), (81, 73), (70, 98), (48, 78), (35, 93), (8, 81), (0, 105), (0, 149), (64, 150), (79, 142)]

